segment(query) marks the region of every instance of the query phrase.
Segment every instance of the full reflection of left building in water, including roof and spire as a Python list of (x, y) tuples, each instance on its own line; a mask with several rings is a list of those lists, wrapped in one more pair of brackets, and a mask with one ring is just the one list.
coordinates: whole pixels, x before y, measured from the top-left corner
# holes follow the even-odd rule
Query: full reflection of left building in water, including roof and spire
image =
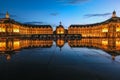
[(19, 40), (19, 39), (2, 39), (0, 40), (0, 56), (10, 60), (12, 54), (23, 48), (47, 48), (53, 44), (52, 40)]

